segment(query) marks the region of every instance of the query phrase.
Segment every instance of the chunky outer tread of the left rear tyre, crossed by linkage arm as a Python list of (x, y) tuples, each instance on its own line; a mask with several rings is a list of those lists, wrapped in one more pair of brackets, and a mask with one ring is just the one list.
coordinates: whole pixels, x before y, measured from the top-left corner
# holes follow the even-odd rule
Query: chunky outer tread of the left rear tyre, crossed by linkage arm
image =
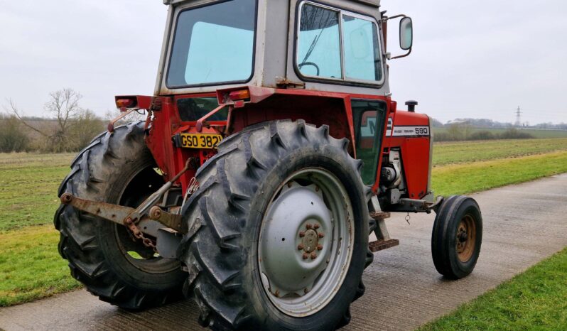
[[(71, 162), (70, 173), (61, 183), (58, 196), (70, 192), (100, 200), (102, 190), (112, 190), (103, 179), (111, 167), (120, 169), (119, 165), (129, 162), (136, 153), (149, 153), (144, 143), (143, 126), (144, 123), (138, 121), (119, 126), (112, 134), (104, 132), (95, 137)], [(99, 249), (97, 222), (95, 217), (68, 205), (60, 205), (54, 216), (55, 229), (60, 232), (59, 253), (68, 260), (73, 278), (84, 283), (87, 291), (100, 300), (129, 310), (149, 308), (180, 298), (181, 284), (173, 292), (150, 292), (139, 290), (117, 276)]]

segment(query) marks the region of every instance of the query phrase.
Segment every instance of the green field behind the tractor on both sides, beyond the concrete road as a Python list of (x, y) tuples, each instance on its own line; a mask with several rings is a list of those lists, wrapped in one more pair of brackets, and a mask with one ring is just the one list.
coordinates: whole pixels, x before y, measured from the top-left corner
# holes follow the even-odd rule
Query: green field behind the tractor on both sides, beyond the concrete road
[[(436, 143), (434, 154), (433, 189), (441, 195), (567, 172), (567, 139)], [(0, 306), (80, 287), (58, 255), (53, 229), (58, 185), (72, 157), (0, 154)]]

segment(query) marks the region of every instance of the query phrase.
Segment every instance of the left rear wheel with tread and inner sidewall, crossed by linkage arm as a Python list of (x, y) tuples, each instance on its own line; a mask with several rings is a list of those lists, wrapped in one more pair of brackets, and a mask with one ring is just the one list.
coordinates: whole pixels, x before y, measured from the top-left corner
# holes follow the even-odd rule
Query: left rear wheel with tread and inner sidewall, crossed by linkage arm
[[(59, 188), (87, 200), (137, 207), (163, 185), (144, 143), (142, 122), (119, 126), (95, 138), (72, 161)], [(71, 275), (88, 291), (121, 308), (138, 310), (181, 298), (187, 273), (162, 259), (126, 227), (82, 213), (68, 205), (55, 212), (59, 252)]]

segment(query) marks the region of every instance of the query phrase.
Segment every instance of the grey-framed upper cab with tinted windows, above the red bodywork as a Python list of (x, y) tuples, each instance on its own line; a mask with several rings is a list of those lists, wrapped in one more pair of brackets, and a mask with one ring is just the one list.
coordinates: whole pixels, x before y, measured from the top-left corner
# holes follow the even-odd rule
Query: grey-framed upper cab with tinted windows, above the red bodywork
[(164, 2), (156, 95), (242, 85), (389, 93), (379, 0)]

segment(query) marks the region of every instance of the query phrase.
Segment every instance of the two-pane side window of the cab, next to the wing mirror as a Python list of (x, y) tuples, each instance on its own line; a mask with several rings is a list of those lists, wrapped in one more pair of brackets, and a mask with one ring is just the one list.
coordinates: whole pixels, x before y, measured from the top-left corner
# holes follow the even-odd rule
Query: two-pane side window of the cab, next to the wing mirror
[(376, 21), (303, 1), (296, 69), (304, 77), (382, 82), (382, 55)]

